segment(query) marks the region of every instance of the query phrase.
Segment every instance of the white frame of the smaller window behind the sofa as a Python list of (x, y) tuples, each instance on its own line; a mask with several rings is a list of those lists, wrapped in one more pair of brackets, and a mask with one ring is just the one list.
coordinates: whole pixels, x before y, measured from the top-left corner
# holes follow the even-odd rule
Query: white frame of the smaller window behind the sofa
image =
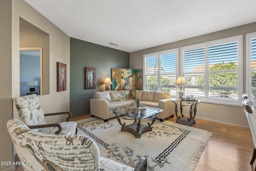
[[(158, 72), (156, 74), (156, 76), (158, 77), (158, 84), (157, 84), (157, 91), (161, 91), (161, 86), (160, 86), (160, 76), (164, 75), (164, 74), (161, 74), (160, 73), (160, 64), (161, 64), (161, 61), (160, 61), (160, 56), (164, 55), (164, 54), (172, 54), (172, 53), (176, 53), (176, 73), (175, 73), (175, 76), (176, 78), (178, 77), (178, 71), (179, 71), (179, 60), (178, 60), (178, 57), (179, 57), (179, 48), (174, 48), (174, 49), (170, 49), (170, 50), (164, 50), (164, 51), (160, 51), (160, 52), (155, 52), (155, 53), (151, 53), (151, 54), (145, 54), (143, 55), (143, 89), (144, 90), (147, 90), (147, 87), (146, 87), (146, 66), (145, 66), (145, 60), (146, 58), (149, 58), (149, 57), (154, 57), (154, 56), (157, 56), (158, 57)], [(177, 86), (175, 85), (175, 89), (177, 90)], [(173, 95), (172, 95), (173, 97)]]

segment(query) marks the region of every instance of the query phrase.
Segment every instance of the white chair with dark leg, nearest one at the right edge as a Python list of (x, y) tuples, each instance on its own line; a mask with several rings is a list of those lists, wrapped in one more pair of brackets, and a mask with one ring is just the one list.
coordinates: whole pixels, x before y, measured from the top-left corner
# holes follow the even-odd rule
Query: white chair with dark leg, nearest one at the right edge
[[(256, 109), (252, 105), (252, 101), (250, 99), (244, 99), (242, 103), (244, 106), (244, 112), (250, 126), (252, 139), (254, 143), (254, 151), (253, 151), (252, 159), (250, 161), (250, 164), (253, 164), (256, 159)], [(256, 171), (256, 167), (255, 167), (255, 171)]]

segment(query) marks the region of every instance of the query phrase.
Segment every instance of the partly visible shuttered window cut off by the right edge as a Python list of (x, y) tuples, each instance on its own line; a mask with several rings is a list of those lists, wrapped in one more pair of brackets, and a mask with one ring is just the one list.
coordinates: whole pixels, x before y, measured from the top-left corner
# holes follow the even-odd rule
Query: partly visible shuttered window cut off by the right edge
[(256, 32), (246, 34), (246, 92), (256, 105)]

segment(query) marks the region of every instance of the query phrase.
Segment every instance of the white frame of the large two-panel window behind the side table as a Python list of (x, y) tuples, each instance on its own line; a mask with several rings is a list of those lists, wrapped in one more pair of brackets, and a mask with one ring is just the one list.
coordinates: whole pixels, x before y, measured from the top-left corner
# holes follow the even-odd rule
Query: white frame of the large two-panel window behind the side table
[[(211, 73), (211, 71), (209, 71), (209, 47), (210, 46), (216, 46), (216, 45), (221, 45), (221, 44), (226, 44), (226, 43), (230, 43), (230, 42), (236, 42), (237, 41), (237, 47), (238, 47), (238, 87), (237, 87), (237, 91), (238, 91), (238, 96), (237, 96), (237, 100), (229, 100), (227, 98), (210, 98), (209, 97), (209, 73)], [(204, 56), (205, 56), (205, 66), (204, 66), (204, 72), (200, 71), (200, 72), (184, 72), (184, 51), (186, 50), (193, 50), (196, 48), (204, 48)], [(207, 103), (217, 103), (217, 104), (226, 104), (226, 105), (238, 105), (238, 106), (242, 106), (241, 103), (241, 95), (242, 95), (242, 35), (240, 36), (234, 36), (234, 37), (230, 37), (230, 38), (224, 38), (224, 39), (220, 39), (220, 40), (214, 40), (214, 41), (210, 41), (210, 42), (204, 42), (201, 44), (194, 44), (191, 46), (184, 46), (180, 48), (180, 74), (181, 75), (186, 75), (186, 74), (202, 74), (204, 73), (205, 75), (205, 80), (204, 80), (204, 98), (200, 98), (198, 97), (198, 99), (202, 100), (202, 102), (207, 102)], [(226, 72), (226, 70), (224, 70)], [(234, 70), (228, 70), (228, 72), (233, 72)], [(221, 72), (221, 71), (220, 71)], [(186, 86), (184, 85), (184, 89), (185, 89), (185, 93), (186, 93)]]

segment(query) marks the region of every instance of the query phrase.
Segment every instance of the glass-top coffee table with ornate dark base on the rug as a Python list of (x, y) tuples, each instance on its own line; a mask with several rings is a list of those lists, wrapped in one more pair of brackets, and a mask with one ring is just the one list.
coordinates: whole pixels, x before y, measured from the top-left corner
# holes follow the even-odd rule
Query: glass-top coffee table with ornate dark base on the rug
[[(116, 115), (116, 118), (121, 127), (121, 131), (129, 132), (134, 135), (136, 138), (140, 138), (140, 136), (148, 131), (152, 131), (151, 125), (156, 121), (156, 116), (164, 111), (162, 109), (154, 108), (154, 107), (144, 107), (140, 106), (135, 108), (133, 106), (120, 107), (116, 109), (111, 109), (113, 113)], [(126, 125), (126, 123), (121, 123), (121, 119), (119, 115), (125, 115), (131, 117), (131, 119), (121, 117), (122, 119), (134, 120), (134, 122), (130, 125)], [(140, 124), (141, 120), (149, 120), (152, 119), (152, 122), (148, 125)]]

